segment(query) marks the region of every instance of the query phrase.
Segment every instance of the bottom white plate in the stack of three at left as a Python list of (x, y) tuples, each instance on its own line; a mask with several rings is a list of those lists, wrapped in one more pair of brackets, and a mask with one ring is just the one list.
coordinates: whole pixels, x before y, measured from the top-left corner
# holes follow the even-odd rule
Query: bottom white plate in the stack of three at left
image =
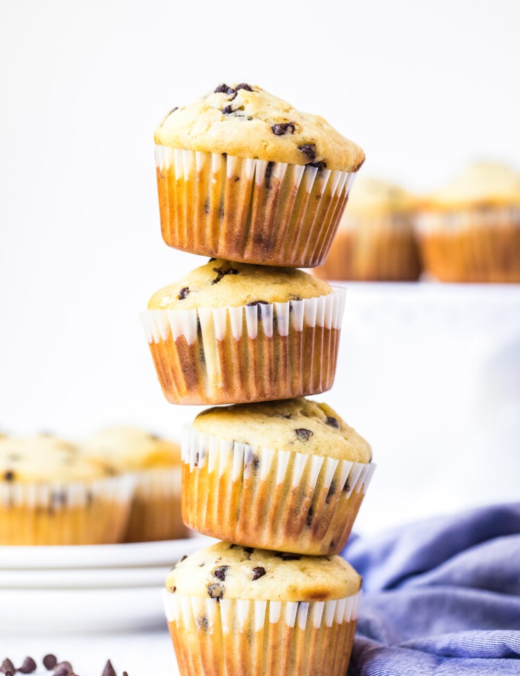
[(160, 587), (1, 589), (0, 608), (2, 644), (7, 636), (22, 632), (55, 636), (166, 627)]

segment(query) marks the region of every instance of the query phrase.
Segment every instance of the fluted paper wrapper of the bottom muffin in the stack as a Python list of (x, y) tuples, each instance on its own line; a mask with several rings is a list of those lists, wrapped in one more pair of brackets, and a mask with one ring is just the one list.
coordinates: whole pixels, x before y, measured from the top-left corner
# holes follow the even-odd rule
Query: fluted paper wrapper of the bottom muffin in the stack
[(164, 609), (183, 676), (345, 676), (361, 591), (327, 601), (183, 596)]

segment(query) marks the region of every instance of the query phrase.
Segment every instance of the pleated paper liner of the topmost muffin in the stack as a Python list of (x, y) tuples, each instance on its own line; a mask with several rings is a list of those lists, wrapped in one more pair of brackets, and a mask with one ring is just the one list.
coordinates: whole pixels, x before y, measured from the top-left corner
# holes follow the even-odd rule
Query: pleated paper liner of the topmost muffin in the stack
[(327, 257), (355, 173), (155, 146), (162, 236), (229, 261), (313, 268)]

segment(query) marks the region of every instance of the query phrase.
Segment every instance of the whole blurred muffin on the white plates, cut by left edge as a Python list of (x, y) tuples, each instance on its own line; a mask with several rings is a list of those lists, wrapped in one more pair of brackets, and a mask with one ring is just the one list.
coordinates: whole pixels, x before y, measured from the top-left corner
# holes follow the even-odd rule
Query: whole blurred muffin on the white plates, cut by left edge
[(120, 542), (135, 481), (115, 474), (53, 435), (0, 440), (0, 545)]

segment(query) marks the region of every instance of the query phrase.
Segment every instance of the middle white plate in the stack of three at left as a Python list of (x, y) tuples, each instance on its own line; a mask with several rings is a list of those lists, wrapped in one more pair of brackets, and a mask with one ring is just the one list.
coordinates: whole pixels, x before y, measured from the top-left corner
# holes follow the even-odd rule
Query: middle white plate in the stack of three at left
[(124, 589), (162, 587), (171, 566), (133, 568), (0, 569), (2, 589)]

